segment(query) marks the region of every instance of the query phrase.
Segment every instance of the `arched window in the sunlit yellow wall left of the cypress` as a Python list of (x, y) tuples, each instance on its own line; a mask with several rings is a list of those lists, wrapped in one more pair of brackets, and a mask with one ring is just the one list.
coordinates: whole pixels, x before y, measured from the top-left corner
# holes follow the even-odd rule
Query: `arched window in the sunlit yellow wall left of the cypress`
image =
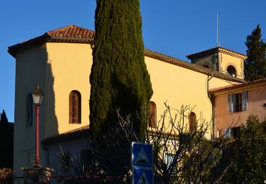
[(70, 92), (70, 123), (81, 123), (82, 96), (79, 91)]

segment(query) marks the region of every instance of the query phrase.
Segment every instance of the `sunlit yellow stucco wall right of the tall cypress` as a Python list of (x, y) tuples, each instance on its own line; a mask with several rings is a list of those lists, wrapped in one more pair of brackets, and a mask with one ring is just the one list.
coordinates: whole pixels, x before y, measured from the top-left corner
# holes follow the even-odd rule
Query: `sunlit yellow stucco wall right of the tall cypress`
[(165, 110), (166, 101), (168, 105), (178, 110), (181, 105), (195, 106), (193, 112), (196, 113), (199, 123), (203, 123), (204, 120), (211, 121), (212, 108), (207, 93), (208, 79), (209, 88), (234, 84), (150, 57), (145, 57), (145, 63), (153, 85), (151, 100), (157, 105), (157, 121)]

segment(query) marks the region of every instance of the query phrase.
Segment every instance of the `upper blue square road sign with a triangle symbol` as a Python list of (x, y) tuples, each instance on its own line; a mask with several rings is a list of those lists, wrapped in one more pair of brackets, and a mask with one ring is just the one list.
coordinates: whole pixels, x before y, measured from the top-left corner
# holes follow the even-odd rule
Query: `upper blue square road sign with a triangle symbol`
[(153, 169), (153, 144), (132, 142), (131, 166)]

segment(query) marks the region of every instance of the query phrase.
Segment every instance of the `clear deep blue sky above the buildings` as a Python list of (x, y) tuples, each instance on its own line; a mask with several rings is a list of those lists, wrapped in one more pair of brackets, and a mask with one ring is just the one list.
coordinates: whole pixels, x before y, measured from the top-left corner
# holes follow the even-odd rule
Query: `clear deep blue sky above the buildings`
[[(187, 54), (216, 47), (246, 53), (245, 40), (260, 24), (266, 38), (265, 0), (140, 0), (146, 48), (189, 62)], [(0, 110), (14, 121), (16, 60), (11, 45), (74, 24), (94, 30), (96, 0), (0, 1)], [(88, 81), (89, 82), (89, 81)]]

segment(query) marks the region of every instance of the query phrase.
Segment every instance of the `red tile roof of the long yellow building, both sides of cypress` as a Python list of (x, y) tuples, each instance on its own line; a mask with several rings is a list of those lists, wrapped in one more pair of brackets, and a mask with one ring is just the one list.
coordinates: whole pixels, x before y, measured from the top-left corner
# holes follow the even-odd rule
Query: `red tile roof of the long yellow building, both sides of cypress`
[[(23, 47), (28, 47), (30, 45), (34, 45), (38, 42), (78, 42), (78, 43), (93, 43), (94, 40), (94, 31), (88, 30), (86, 28), (81, 28), (77, 25), (67, 25), (63, 28), (58, 28), (56, 30), (50, 30), (49, 32), (26, 42), (21, 42), (16, 45), (9, 47), (9, 54), (13, 57), (16, 57), (16, 53)], [(181, 59), (177, 59), (174, 57), (167, 56), (165, 54), (161, 54), (159, 52), (154, 52), (152, 50), (145, 49), (145, 56), (152, 57), (155, 59), (159, 59), (162, 62), (167, 62), (170, 64), (177, 65), (179, 67), (184, 67), (187, 69), (191, 69), (202, 74), (213, 75), (220, 79), (226, 79), (228, 81), (237, 81), (244, 82), (243, 79), (237, 79), (233, 76), (228, 76), (226, 74), (221, 74), (218, 71), (214, 71), (211, 69), (206, 69), (205, 67), (201, 67), (197, 64), (192, 64), (186, 61), (182, 61)]]

